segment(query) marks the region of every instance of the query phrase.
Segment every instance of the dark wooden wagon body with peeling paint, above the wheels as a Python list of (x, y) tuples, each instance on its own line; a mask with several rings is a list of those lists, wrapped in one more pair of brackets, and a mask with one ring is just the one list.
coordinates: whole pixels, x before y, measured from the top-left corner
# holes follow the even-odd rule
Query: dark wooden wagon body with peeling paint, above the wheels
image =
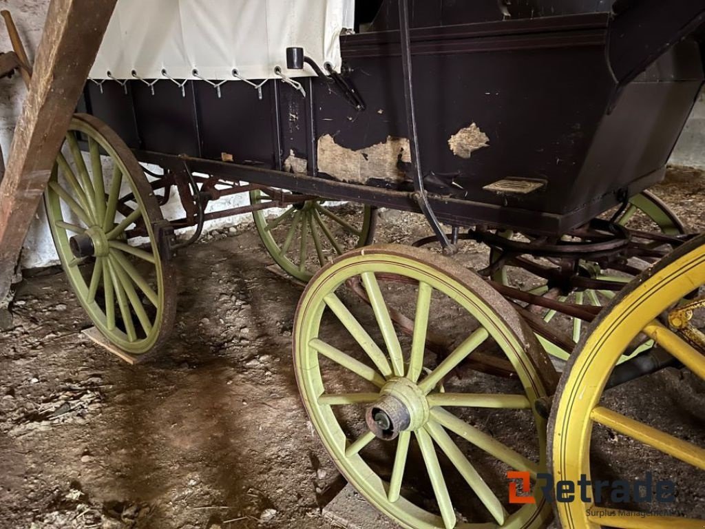
[[(393, 27), (387, 4), (377, 31), (341, 39), (364, 111), (317, 78), (300, 79), (306, 97), (268, 83), (261, 99), (245, 83), (216, 92), (193, 80), (183, 93), (168, 80), (132, 80), (128, 90), (89, 83), (85, 107), (144, 161), (168, 165), (186, 154), (202, 162), (196, 170), (252, 179), (217, 164), (226, 159), (319, 178), (324, 196), (413, 209), (408, 200), (379, 200), (383, 189), (413, 190), (399, 37), (383, 30)], [(615, 35), (658, 27), (653, 2), (617, 16), (599, 12), (603, 2), (566, 2), (571, 14), (537, 18), (521, 18), (535, 7), (519, 3), (516, 19), (461, 24), (453, 22), (492, 18), (482, 14), (488, 6), (450, 4), (424, 4), (424, 17), (441, 25), (411, 32), (422, 171), (442, 220), (565, 233), (661, 180), (704, 80), (697, 40), (670, 43), (697, 29), (705, 6), (682, 8), (665, 33), (630, 33), (633, 45), (623, 47)], [(293, 186), (312, 192), (304, 182)]]

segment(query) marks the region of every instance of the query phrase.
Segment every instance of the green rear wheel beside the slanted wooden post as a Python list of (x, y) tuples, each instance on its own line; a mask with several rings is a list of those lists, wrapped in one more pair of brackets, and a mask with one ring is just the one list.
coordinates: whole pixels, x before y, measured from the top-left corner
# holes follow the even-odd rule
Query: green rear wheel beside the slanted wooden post
[(76, 114), (44, 204), (61, 266), (97, 329), (133, 355), (157, 348), (173, 327), (174, 268), (154, 231), (161, 210), (127, 145), (97, 118)]

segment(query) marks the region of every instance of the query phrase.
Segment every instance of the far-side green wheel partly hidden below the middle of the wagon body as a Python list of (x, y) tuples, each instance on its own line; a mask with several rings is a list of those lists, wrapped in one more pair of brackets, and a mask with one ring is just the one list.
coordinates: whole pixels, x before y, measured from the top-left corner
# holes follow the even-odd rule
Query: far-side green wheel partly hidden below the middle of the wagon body
[[(253, 205), (269, 201), (264, 191), (250, 192)], [(377, 219), (373, 207), (333, 206), (324, 199), (297, 202), (275, 218), (268, 217), (266, 210), (252, 216), (274, 262), (304, 282), (345, 251), (372, 244)]]

